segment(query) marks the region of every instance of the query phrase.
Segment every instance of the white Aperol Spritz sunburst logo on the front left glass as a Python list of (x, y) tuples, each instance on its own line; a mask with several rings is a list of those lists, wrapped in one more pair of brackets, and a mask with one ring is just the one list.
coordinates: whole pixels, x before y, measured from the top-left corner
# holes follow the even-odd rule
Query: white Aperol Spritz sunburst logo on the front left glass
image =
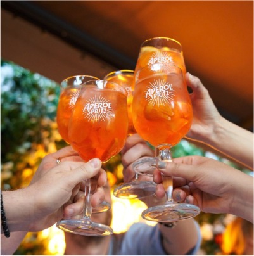
[(112, 114), (112, 103), (105, 97), (94, 96), (84, 104), (84, 118), (92, 122), (104, 122)]

